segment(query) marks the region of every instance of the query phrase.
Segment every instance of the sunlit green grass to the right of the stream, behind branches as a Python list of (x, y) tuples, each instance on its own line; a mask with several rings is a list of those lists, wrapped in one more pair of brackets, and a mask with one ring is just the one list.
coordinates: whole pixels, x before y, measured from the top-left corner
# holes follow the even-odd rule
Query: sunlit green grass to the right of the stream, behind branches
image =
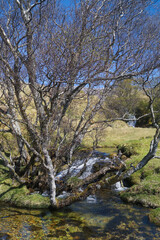
[[(133, 128), (117, 121), (112, 127), (103, 130), (98, 145), (106, 152), (116, 151), (118, 145), (134, 148), (136, 153), (125, 161), (127, 168), (129, 168), (131, 163), (136, 166), (148, 153), (154, 133), (155, 129), (153, 128)], [(92, 138), (90, 136), (84, 139), (84, 145), (92, 147)], [(99, 150), (101, 151), (101, 149)], [(157, 155), (160, 155), (160, 147)], [(159, 159), (150, 160), (144, 168), (130, 176), (129, 182), (132, 187), (128, 191), (121, 193), (122, 199), (145, 207), (156, 208), (151, 211), (149, 218), (152, 222), (160, 225)]]

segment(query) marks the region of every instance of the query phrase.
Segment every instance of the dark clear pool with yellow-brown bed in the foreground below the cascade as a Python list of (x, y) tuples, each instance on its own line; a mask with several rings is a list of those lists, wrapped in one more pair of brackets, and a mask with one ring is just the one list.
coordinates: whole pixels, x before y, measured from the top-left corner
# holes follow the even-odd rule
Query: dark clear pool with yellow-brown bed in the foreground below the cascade
[(148, 213), (107, 190), (63, 211), (1, 206), (0, 239), (160, 239), (160, 228), (149, 222)]

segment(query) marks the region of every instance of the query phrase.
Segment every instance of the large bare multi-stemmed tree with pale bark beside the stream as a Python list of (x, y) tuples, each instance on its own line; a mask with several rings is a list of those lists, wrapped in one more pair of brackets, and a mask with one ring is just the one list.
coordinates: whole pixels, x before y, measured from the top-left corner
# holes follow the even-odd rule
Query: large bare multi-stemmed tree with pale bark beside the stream
[[(55, 208), (86, 197), (96, 188), (89, 184), (110, 169), (85, 179), (81, 194), (56, 199), (61, 159), (70, 166), (107, 94), (117, 81), (155, 68), (143, 62), (155, 39), (142, 26), (151, 3), (82, 0), (68, 10), (53, 0), (1, 3), (1, 132), (17, 147), (8, 158), (8, 144), (1, 142), (0, 157), (19, 181), (38, 164)], [(82, 102), (79, 112), (76, 101)]]

